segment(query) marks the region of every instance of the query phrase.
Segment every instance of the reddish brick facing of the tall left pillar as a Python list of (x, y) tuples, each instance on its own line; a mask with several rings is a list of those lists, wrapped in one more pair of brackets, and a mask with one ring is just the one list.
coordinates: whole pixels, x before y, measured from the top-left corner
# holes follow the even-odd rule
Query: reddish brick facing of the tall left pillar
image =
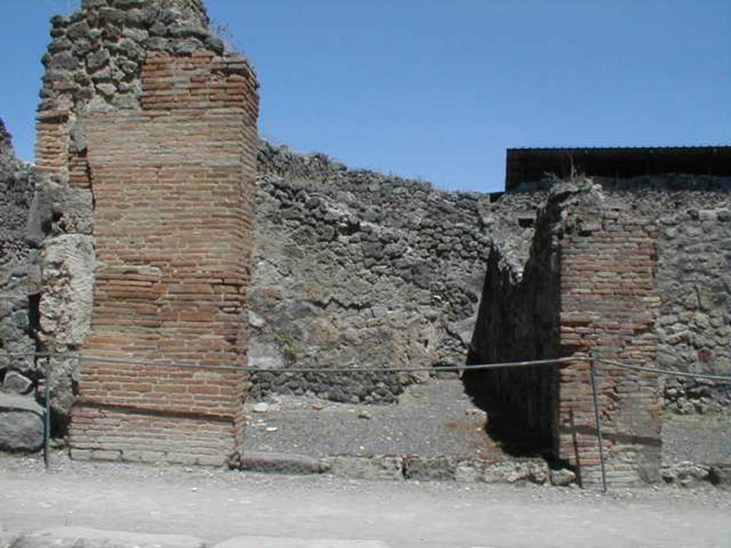
[[(246, 365), (254, 78), (238, 58), (159, 55), (143, 91), (143, 110), (82, 118), (97, 256), (83, 351)], [(245, 387), (236, 371), (85, 363), (72, 456), (221, 464)]]

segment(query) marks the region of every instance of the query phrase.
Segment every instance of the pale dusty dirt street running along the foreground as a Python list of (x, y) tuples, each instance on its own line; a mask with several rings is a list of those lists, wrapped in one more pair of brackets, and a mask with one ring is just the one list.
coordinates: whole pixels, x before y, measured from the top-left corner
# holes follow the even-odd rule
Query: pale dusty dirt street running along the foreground
[(731, 547), (731, 492), (368, 482), (0, 457), (0, 529), (367, 539), (392, 548)]

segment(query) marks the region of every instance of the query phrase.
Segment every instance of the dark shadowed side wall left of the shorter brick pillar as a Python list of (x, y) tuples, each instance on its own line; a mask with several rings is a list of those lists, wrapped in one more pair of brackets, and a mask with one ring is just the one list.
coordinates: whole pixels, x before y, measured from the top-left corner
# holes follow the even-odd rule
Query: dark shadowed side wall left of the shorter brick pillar
[[(559, 355), (557, 218), (551, 208), (539, 217), (522, 276), (499, 248), (491, 251), (468, 365)], [(556, 455), (555, 366), (470, 370), (462, 379), (466, 394), (488, 414), (488, 435), (506, 452), (548, 459)]]

